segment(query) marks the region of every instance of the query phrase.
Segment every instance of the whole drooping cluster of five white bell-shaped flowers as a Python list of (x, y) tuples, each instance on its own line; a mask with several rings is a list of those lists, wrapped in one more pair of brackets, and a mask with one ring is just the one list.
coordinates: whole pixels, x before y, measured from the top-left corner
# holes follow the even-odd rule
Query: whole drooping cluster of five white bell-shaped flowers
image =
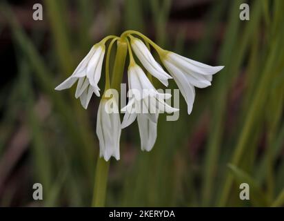
[[(159, 113), (179, 111), (179, 109), (173, 108), (166, 103), (166, 100), (171, 97), (170, 94), (159, 93), (154, 88), (152, 77), (161, 81), (165, 86), (168, 86), (169, 79), (174, 79), (187, 103), (187, 113), (190, 114), (195, 97), (194, 87), (205, 88), (210, 86), (212, 75), (223, 68), (223, 66), (202, 64), (174, 52), (164, 50), (140, 32), (129, 30), (123, 32), (121, 37), (108, 36), (92, 46), (90, 52), (74, 70), (74, 73), (59, 84), (55, 90), (70, 88), (78, 81), (75, 97), (80, 98), (83, 108), (88, 107), (93, 93), (99, 97), (100, 88), (98, 83), (101, 78), (103, 59), (105, 57), (105, 43), (109, 39), (112, 39), (112, 41), (108, 45), (108, 54), (105, 59), (105, 91), (102, 95), (97, 115), (97, 136), (99, 137), (100, 156), (104, 157), (106, 161), (111, 156), (115, 157), (116, 160), (120, 158), (119, 140), (121, 128), (129, 126), (137, 119), (141, 137), (141, 149), (150, 151), (156, 141)], [(108, 63), (114, 41), (121, 41), (127, 44), (130, 61), (128, 66), (129, 99), (128, 104), (121, 108), (121, 111), (119, 111), (118, 97), (114, 95), (107, 96), (108, 90), (113, 90), (112, 84), (110, 84)], [(165, 70), (168, 70), (169, 74), (154, 59), (150, 52), (150, 46), (156, 50)], [(135, 58), (139, 59), (142, 66), (136, 63), (134, 55)], [(116, 56), (118, 56), (117, 52)], [(124, 68), (124, 64), (121, 65)], [(125, 113), (122, 123), (119, 113)]]

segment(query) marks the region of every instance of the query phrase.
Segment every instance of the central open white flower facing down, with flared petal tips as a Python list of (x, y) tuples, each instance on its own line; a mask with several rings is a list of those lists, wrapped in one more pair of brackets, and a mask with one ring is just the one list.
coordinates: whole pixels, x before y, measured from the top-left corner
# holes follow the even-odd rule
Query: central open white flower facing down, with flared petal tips
[(132, 97), (121, 109), (125, 112), (121, 128), (132, 124), (137, 117), (141, 137), (141, 149), (150, 151), (156, 141), (156, 126), (159, 113), (173, 113), (179, 109), (165, 103), (170, 94), (159, 93), (151, 84), (143, 70), (138, 66), (128, 68), (128, 95)]

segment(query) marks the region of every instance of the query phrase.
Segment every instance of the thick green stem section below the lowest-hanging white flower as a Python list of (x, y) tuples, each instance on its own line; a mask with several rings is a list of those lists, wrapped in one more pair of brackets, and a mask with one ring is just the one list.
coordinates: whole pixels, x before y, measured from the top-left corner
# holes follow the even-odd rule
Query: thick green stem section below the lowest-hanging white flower
[(106, 162), (103, 157), (98, 156), (97, 168), (94, 176), (94, 192), (92, 207), (105, 206), (105, 193), (108, 186), (108, 169), (110, 160)]

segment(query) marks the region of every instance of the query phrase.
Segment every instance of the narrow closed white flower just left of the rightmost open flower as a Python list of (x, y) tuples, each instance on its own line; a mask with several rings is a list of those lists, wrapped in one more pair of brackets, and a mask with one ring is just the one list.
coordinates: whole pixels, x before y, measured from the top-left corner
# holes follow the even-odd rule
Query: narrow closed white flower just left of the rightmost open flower
[(148, 70), (151, 75), (159, 79), (159, 81), (161, 81), (165, 86), (168, 86), (168, 79), (172, 79), (172, 77), (168, 75), (165, 70), (163, 70), (158, 62), (156, 62), (150, 50), (148, 50), (143, 41), (131, 37), (131, 47), (146, 70)]

